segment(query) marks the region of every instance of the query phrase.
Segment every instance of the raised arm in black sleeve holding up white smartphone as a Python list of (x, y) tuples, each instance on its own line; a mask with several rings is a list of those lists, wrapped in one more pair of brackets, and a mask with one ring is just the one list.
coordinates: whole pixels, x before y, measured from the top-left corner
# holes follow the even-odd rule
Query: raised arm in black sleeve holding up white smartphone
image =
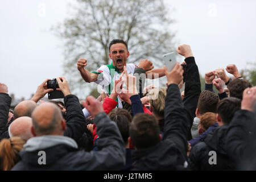
[[(164, 66), (166, 69), (166, 66)], [(187, 116), (180, 96), (178, 84), (183, 80), (183, 68), (177, 63), (171, 72), (166, 69), (168, 89), (164, 108), (164, 140), (172, 140), (187, 156)]]

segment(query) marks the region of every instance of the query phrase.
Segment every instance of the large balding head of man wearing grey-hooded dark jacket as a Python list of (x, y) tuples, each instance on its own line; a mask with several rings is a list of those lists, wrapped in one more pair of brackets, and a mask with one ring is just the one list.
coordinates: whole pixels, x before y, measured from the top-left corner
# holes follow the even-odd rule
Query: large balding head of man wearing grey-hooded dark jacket
[(59, 107), (49, 102), (39, 105), (32, 113), (32, 123), (37, 136), (62, 135), (63, 120)]

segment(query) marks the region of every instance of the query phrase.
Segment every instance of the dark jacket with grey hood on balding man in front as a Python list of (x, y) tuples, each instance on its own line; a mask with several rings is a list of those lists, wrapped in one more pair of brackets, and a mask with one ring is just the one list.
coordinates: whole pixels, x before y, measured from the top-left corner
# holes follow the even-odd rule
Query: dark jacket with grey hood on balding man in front
[[(80, 108), (81, 109), (81, 108)], [(94, 118), (97, 126), (97, 134), (100, 136), (97, 147), (99, 151), (85, 152), (67, 144), (55, 144), (54, 146), (44, 148), (43, 143), (30, 148), (36, 150), (27, 150), (27, 144), (32, 143), (31, 139), (27, 141), (23, 150), (19, 153), (21, 161), (14, 166), (12, 170), (118, 170), (125, 164), (125, 147), (117, 125), (110, 121), (105, 113), (97, 114)], [(36, 138), (36, 137), (35, 137)], [(62, 137), (63, 140), (65, 137)], [(72, 140), (68, 138), (68, 140)], [(51, 141), (49, 141), (51, 142)], [(73, 144), (76, 142), (73, 140)], [(39, 164), (39, 151), (46, 152), (46, 164)]]

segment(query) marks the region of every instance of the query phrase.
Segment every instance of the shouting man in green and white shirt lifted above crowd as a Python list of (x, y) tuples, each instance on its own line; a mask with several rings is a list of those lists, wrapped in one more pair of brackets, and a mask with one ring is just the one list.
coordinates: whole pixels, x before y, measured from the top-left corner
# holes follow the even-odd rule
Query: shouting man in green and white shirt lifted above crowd
[[(100, 68), (97, 69), (97, 71), (89, 72), (87, 69), (85, 69), (87, 65), (87, 60), (79, 59), (79, 61), (77, 61), (77, 69), (80, 71), (81, 76), (85, 80), (85, 82), (96, 82), (97, 84), (102, 86), (102, 89), (104, 88), (105, 93), (108, 93), (110, 95), (114, 86), (114, 80), (119, 78), (119, 75), (123, 72), (123, 67), (126, 66), (127, 73), (129, 74), (133, 74), (134, 69), (137, 68), (137, 65), (135, 64), (127, 64), (127, 58), (129, 57), (129, 55), (130, 52), (128, 51), (127, 43), (123, 40), (114, 39), (109, 44), (109, 58), (112, 59), (111, 64), (102, 65)], [(148, 62), (151, 63), (151, 61)], [(158, 74), (158, 77), (164, 76), (163, 68), (154, 70), (146, 69), (145, 71), (146, 76), (151, 73), (151, 78), (155, 78), (155, 74)], [(121, 101), (119, 102), (119, 104), (120, 103)]]

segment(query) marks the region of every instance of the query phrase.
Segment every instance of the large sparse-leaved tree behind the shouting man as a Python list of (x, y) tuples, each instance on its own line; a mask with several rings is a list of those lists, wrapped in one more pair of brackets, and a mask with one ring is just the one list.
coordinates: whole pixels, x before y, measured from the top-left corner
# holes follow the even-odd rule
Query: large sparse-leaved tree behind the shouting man
[[(163, 67), (162, 55), (175, 49), (170, 31), (173, 20), (168, 17), (172, 10), (163, 0), (77, 0), (73, 11), (70, 18), (53, 27), (64, 40), (64, 72), (73, 91), (85, 88), (77, 60), (87, 59), (90, 71), (109, 64), (112, 39), (127, 41), (128, 63), (149, 59), (155, 68)], [(86, 88), (92, 84), (88, 85)]]

